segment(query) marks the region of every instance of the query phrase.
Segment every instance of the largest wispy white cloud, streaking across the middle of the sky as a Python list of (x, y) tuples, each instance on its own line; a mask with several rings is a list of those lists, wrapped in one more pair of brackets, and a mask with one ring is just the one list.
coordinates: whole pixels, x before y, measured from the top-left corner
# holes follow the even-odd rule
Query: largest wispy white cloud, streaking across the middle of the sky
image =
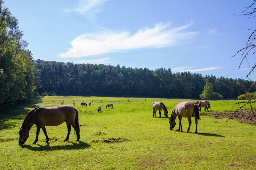
[(188, 43), (197, 32), (184, 31), (189, 25), (170, 29), (169, 24), (158, 23), (154, 28), (145, 28), (137, 33), (127, 31), (115, 33), (85, 33), (76, 37), (72, 48), (61, 53), (60, 57), (84, 57), (122, 52), (139, 48), (163, 48)]

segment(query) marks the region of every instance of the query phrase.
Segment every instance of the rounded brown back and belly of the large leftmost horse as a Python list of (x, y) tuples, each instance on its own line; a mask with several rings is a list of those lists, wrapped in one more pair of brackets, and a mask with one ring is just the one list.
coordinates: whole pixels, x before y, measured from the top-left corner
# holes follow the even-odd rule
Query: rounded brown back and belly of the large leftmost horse
[(63, 122), (74, 122), (76, 110), (72, 106), (62, 105), (54, 107), (39, 107), (35, 111), (36, 124), (57, 126)]

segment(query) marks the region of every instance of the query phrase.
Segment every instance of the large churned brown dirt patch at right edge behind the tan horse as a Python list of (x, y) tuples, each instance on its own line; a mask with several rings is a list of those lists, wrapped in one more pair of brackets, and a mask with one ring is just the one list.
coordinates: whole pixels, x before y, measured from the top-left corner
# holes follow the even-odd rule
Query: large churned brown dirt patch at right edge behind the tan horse
[[(256, 114), (256, 108), (253, 109), (254, 114)], [(216, 112), (216, 113), (199, 113), (202, 116), (212, 116), (216, 119), (220, 118), (230, 118), (237, 119), (239, 122), (253, 124), (256, 126), (256, 115), (253, 115), (252, 109), (241, 109), (238, 111), (227, 111), (225, 113)]]

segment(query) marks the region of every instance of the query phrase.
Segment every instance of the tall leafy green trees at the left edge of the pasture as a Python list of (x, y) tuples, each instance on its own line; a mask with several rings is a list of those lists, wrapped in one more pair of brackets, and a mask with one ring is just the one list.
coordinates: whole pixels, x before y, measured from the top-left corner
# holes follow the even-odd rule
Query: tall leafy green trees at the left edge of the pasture
[(0, 104), (30, 98), (36, 89), (32, 54), (18, 20), (0, 0)]

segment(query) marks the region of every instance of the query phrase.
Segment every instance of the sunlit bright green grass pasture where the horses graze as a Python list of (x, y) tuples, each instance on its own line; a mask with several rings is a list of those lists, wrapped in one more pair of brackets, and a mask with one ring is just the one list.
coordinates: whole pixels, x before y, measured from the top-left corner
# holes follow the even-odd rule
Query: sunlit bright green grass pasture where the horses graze
[[(44, 96), (41, 100), (115, 100), (105, 97)], [(132, 98), (129, 98), (132, 99)], [(137, 99), (137, 98), (134, 98)], [(163, 101), (170, 117), (177, 100)], [(230, 110), (237, 101), (210, 101), (211, 114)], [(153, 118), (152, 101), (93, 102), (80, 107), (80, 142), (72, 128), (69, 141), (67, 127), (46, 127), (50, 143), (45, 143), (41, 130), (37, 144), (36, 125), (23, 146), (18, 145), (19, 127), (26, 114), (38, 106), (57, 103), (30, 104), (2, 110), (0, 114), (0, 169), (255, 169), (256, 127), (237, 120), (201, 116), (198, 133), (192, 118), (190, 133), (173, 131), (168, 118)], [(73, 105), (73, 103), (65, 103)], [(88, 104), (88, 103), (87, 103)], [(97, 107), (102, 107), (98, 113)], [(234, 109), (239, 108), (236, 105)], [(234, 110), (233, 109), (233, 110)], [(158, 115), (158, 114), (157, 114)], [(188, 128), (182, 119), (183, 131)], [(119, 142), (106, 143), (110, 139)]]

